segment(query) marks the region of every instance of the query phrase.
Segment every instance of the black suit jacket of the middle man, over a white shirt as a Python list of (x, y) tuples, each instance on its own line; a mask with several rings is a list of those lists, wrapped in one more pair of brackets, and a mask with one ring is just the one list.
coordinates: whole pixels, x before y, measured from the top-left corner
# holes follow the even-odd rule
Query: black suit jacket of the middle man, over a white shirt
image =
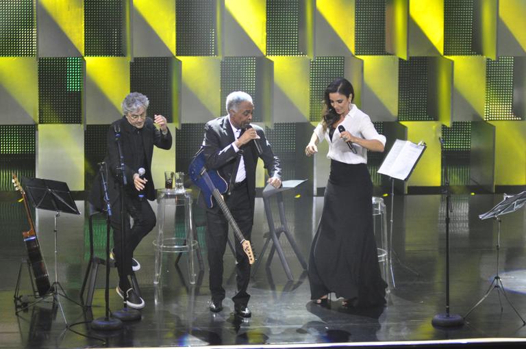
[[(261, 157), (264, 167), (270, 177), (281, 179), (281, 168), (279, 159), (274, 155), (271, 144), (266, 140), (265, 133), (258, 125), (252, 125), (260, 136), (261, 155), (254, 142), (249, 142), (241, 147), (243, 160), (245, 161), (245, 171), (247, 172), (247, 186), (249, 188), (249, 198), (251, 208), (255, 201), (255, 168), (258, 164), (258, 157)], [(222, 116), (206, 123), (205, 139), (203, 141), (203, 152), (207, 158), (206, 166), (212, 170), (218, 170), (221, 177), (230, 183), (234, 165), (238, 153), (234, 150), (231, 143), (234, 142), (234, 132), (230, 126), (229, 116)]]

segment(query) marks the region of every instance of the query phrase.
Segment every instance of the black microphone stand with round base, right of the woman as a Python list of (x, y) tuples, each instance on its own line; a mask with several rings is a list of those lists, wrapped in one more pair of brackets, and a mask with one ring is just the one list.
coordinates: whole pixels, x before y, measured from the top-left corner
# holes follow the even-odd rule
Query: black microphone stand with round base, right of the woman
[(449, 211), (453, 212), (453, 209), (451, 209), (449, 203), (451, 192), (449, 190), (444, 140), (440, 137), (438, 140), (440, 140), (440, 151), (442, 153), (442, 162), (444, 163), (444, 189), (442, 193), (446, 196), (446, 312), (436, 314), (431, 320), (431, 324), (437, 327), (457, 327), (464, 325), (464, 318), (458, 314), (449, 313)]

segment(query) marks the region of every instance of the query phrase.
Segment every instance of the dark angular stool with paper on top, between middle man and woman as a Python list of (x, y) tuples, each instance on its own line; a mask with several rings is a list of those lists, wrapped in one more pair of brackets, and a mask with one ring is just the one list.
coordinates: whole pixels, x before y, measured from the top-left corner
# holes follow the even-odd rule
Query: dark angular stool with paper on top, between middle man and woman
[[(303, 270), (307, 270), (307, 263), (305, 263), (305, 260), (303, 257), (301, 257), (301, 252), (294, 240), (294, 237), (292, 237), (292, 234), (288, 230), (287, 227), (287, 220), (285, 217), (285, 205), (283, 203), (283, 194), (281, 192), (284, 192), (285, 190), (289, 190), (292, 188), (296, 188), (298, 185), (306, 181), (306, 179), (300, 179), (300, 180), (290, 180), (290, 181), (283, 181), (281, 184), (281, 188), (274, 188), (273, 185), (267, 184), (266, 187), (263, 190), (263, 203), (265, 207), (265, 215), (266, 220), (268, 222), (268, 233), (266, 234), (266, 241), (263, 245), (263, 249), (261, 250), (261, 257), (265, 254), (266, 248), (268, 247), (268, 243), (273, 242), (273, 245), (271, 247), (270, 252), (268, 253), (268, 259), (266, 261), (266, 266), (270, 266), (271, 261), (274, 257), (274, 251), (277, 252), (277, 255), (279, 256), (279, 260), (281, 261), (281, 265), (283, 266), (285, 270), (285, 274), (287, 275), (287, 279), (289, 281), (294, 280), (292, 277), (292, 272), (290, 272), (290, 267), (288, 266), (287, 259), (285, 257), (285, 254), (283, 252), (283, 249), (281, 248), (281, 244), (279, 244), (279, 235), (281, 233), (284, 233), (287, 237), (288, 242), (290, 243), (290, 246), (292, 247), (292, 250), (294, 250), (294, 253), (296, 254), (296, 257), (298, 258), (299, 263), (303, 267)], [(271, 209), (271, 197), (276, 196), (277, 199), (277, 207), (279, 211), (279, 218), (281, 221), (280, 227), (275, 227), (274, 225), (274, 218), (272, 216), (272, 209)], [(258, 258), (258, 260), (255, 262), (252, 276), (255, 275), (255, 272), (258, 271), (258, 267), (260, 266), (262, 258)]]

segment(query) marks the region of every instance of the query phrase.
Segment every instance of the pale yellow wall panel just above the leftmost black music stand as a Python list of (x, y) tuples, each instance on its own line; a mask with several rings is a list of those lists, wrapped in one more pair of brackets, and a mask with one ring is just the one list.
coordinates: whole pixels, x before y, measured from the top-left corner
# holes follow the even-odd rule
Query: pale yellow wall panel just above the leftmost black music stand
[(37, 177), (84, 190), (84, 125), (38, 125)]

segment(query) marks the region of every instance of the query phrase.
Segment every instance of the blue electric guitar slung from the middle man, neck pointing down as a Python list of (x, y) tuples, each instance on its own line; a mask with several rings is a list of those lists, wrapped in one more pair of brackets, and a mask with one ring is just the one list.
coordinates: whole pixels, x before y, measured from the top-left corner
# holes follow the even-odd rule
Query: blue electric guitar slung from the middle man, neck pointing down
[(240, 242), (245, 255), (249, 258), (249, 263), (254, 263), (254, 255), (252, 253), (252, 246), (248, 240), (245, 240), (243, 233), (241, 233), (236, 220), (232, 217), (230, 210), (223, 199), (221, 194), (225, 193), (228, 189), (228, 184), (221, 177), (216, 170), (208, 170), (205, 166), (206, 159), (203, 151), (198, 151), (195, 157), (190, 162), (190, 167), (188, 172), (190, 173), (190, 179), (201, 189), (201, 194), (205, 198), (206, 205), (209, 208), (212, 208), (214, 202), (212, 201), (212, 196), (216, 199), (216, 203), (219, 205), (221, 211), (227, 218), (230, 226), (234, 229), (234, 235)]

